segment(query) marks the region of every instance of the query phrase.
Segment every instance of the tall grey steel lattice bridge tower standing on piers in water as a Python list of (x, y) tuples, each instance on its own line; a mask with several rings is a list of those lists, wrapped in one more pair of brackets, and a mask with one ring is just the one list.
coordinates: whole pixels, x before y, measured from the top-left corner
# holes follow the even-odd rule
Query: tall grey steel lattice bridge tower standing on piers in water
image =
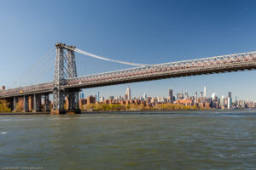
[[(56, 43), (55, 79), (53, 90), (53, 110), (51, 114), (80, 113), (79, 89), (65, 89), (66, 78), (77, 77), (74, 51), (65, 48), (63, 43)], [(68, 48), (75, 48), (68, 46)], [(67, 55), (65, 54), (67, 50)], [(65, 77), (66, 76), (66, 77)], [(68, 99), (68, 109), (65, 110), (65, 99)]]

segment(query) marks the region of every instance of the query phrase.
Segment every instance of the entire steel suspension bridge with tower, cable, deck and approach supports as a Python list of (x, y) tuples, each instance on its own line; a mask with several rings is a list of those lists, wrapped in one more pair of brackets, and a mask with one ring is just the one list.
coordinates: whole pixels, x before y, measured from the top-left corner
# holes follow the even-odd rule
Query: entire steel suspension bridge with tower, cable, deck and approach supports
[[(33, 108), (33, 111), (42, 111), (41, 99), (44, 99), (44, 111), (50, 111), (49, 94), (52, 94), (53, 109), (51, 114), (80, 113), (79, 91), (82, 88), (256, 69), (256, 52), (228, 54), (158, 65), (144, 65), (108, 59), (90, 54), (75, 46), (67, 46), (64, 43), (56, 43), (55, 48), (55, 65), (53, 65), (55, 66), (55, 77), (52, 82), (0, 91), (0, 99), (7, 100), (12, 111), (16, 110), (16, 103), (19, 99), (23, 99), (24, 111), (28, 111), (29, 106)], [(122, 65), (132, 65), (133, 68), (78, 77), (75, 52), (95, 59), (107, 60)], [(49, 63), (45, 63), (45, 65), (49, 65)], [(34, 69), (37, 68), (32, 68), (31, 71)], [(64, 107), (66, 99), (68, 100), (67, 110)]]

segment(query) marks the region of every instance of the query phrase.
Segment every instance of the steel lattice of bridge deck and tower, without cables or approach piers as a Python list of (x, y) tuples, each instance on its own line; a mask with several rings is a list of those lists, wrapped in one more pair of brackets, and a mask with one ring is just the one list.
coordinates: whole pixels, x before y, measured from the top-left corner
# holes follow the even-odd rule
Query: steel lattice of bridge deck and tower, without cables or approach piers
[[(56, 46), (57, 47), (57, 46)], [(68, 77), (64, 78), (62, 51), (67, 49)], [(256, 69), (256, 52), (243, 54), (229, 54), (204, 59), (191, 59), (178, 62), (164, 63), (160, 65), (145, 65), (141, 67), (105, 72), (102, 74), (77, 77), (73, 46), (62, 44), (57, 47), (55, 61), (55, 81), (45, 82), (32, 86), (11, 88), (0, 91), (0, 99), (23, 96), (26, 94), (50, 94), (54, 96), (67, 96), (71, 102), (70, 108), (78, 108), (79, 89), (108, 86), (127, 82), (143, 82), (171, 77), (187, 77), (201, 74), (213, 74), (228, 71), (244, 71)], [(59, 99), (56, 97), (55, 99)], [(61, 98), (61, 100), (63, 100)], [(55, 108), (61, 109), (62, 105), (57, 101)]]

